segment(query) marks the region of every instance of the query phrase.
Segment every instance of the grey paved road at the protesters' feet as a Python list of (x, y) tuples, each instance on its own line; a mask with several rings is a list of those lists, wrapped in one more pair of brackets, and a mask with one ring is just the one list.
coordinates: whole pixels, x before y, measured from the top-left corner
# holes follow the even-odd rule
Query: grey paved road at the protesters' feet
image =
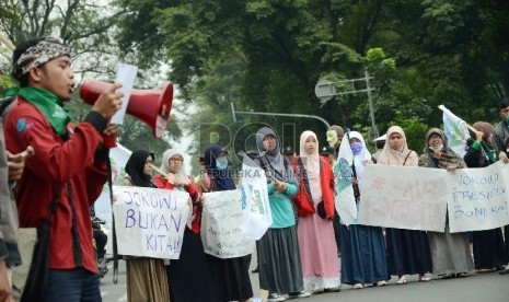
[[(126, 269), (120, 262), (119, 280), (113, 284), (111, 269), (102, 280), (101, 294), (105, 302), (125, 302)], [(258, 276), (251, 275), (254, 292), (259, 292)], [(509, 275), (473, 275), (468, 278), (442, 280), (435, 277), (430, 282), (418, 282), (417, 277), (408, 279), (408, 284), (400, 286), (393, 278), (389, 286), (352, 290), (343, 286), (342, 292), (315, 294), (302, 302), (509, 302)], [(187, 302), (187, 301), (186, 301)], [(188, 301), (193, 302), (193, 301)]]

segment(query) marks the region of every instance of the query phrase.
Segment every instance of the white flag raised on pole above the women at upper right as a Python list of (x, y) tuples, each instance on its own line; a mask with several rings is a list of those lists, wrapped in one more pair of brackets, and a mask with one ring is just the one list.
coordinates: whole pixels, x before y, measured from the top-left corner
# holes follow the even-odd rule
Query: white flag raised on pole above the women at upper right
[(456, 154), (460, 154), (462, 158), (465, 155), (465, 144), (466, 140), (470, 138), (468, 128), (466, 123), (455, 116), (451, 111), (446, 108), (446, 106), (438, 106), (439, 109), (443, 112), (443, 132), (448, 139), (448, 146)]

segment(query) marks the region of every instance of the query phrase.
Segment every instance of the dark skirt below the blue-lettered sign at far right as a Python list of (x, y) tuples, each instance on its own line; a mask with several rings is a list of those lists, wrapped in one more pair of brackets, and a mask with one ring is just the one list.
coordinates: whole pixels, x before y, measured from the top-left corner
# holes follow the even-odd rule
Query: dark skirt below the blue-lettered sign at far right
[(506, 264), (506, 247), (501, 228), (473, 232), (476, 269), (499, 268)]

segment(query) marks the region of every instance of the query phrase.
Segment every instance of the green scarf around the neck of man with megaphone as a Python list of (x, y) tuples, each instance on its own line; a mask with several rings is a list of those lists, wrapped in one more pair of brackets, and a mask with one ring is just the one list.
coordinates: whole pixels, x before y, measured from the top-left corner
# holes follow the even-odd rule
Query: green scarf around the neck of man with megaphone
[(56, 94), (36, 88), (22, 88), (19, 94), (43, 113), (57, 135), (66, 132), (66, 126), (71, 118), (69, 111), (63, 108), (63, 102)]

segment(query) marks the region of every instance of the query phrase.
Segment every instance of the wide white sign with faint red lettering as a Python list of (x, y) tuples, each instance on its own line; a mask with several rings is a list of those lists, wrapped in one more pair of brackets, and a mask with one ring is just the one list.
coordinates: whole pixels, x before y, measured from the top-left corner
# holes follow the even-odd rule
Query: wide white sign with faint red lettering
[(443, 232), (447, 176), (441, 169), (367, 165), (358, 223)]

